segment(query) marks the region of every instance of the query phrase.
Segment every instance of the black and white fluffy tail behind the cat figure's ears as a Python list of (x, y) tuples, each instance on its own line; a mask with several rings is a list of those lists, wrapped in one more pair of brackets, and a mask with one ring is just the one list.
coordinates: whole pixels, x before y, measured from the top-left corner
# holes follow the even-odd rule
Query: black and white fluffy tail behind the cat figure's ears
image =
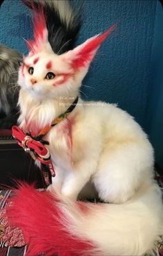
[(43, 6), (48, 28), (48, 41), (52, 50), (61, 54), (73, 49), (81, 26), (81, 8), (75, 8), (68, 0), (22, 0), (30, 8)]

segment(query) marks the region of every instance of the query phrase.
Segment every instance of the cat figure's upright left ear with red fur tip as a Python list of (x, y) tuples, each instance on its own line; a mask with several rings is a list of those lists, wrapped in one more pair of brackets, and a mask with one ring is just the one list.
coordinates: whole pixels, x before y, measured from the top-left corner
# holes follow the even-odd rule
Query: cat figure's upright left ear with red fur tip
[(48, 42), (48, 29), (46, 27), (46, 18), (43, 7), (35, 9), (32, 6), (33, 17), (33, 40), (28, 40), (27, 45), (30, 54), (38, 53), (39, 51), (51, 51), (51, 46)]

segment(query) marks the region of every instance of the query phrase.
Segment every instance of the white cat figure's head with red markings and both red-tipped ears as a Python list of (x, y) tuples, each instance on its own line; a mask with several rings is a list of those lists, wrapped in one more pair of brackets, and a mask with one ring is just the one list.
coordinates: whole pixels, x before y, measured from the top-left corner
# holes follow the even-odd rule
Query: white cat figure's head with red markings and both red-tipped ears
[(99, 45), (114, 29), (115, 25), (75, 49), (57, 55), (48, 42), (44, 14), (35, 15), (34, 40), (28, 41), (30, 53), (19, 70), (19, 85), (40, 99), (74, 96)]

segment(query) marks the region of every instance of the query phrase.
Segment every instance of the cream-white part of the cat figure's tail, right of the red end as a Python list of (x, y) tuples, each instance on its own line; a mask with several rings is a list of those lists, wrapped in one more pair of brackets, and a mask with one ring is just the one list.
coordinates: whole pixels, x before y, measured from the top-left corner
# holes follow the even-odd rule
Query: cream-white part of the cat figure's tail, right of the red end
[(157, 185), (144, 181), (137, 194), (122, 205), (89, 204), (82, 212), (76, 203), (62, 198), (59, 207), (70, 234), (89, 239), (99, 248), (100, 253), (94, 251), (93, 255), (138, 256), (152, 254), (155, 239), (162, 234), (161, 198)]

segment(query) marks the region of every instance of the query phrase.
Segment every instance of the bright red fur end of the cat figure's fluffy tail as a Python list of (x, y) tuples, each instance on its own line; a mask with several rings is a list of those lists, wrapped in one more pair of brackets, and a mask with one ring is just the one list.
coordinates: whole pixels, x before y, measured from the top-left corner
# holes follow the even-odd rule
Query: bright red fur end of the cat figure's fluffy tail
[(21, 228), (28, 245), (26, 255), (81, 256), (93, 248), (89, 241), (82, 241), (68, 232), (57, 196), (21, 184), (11, 201), (7, 217), (10, 225)]

